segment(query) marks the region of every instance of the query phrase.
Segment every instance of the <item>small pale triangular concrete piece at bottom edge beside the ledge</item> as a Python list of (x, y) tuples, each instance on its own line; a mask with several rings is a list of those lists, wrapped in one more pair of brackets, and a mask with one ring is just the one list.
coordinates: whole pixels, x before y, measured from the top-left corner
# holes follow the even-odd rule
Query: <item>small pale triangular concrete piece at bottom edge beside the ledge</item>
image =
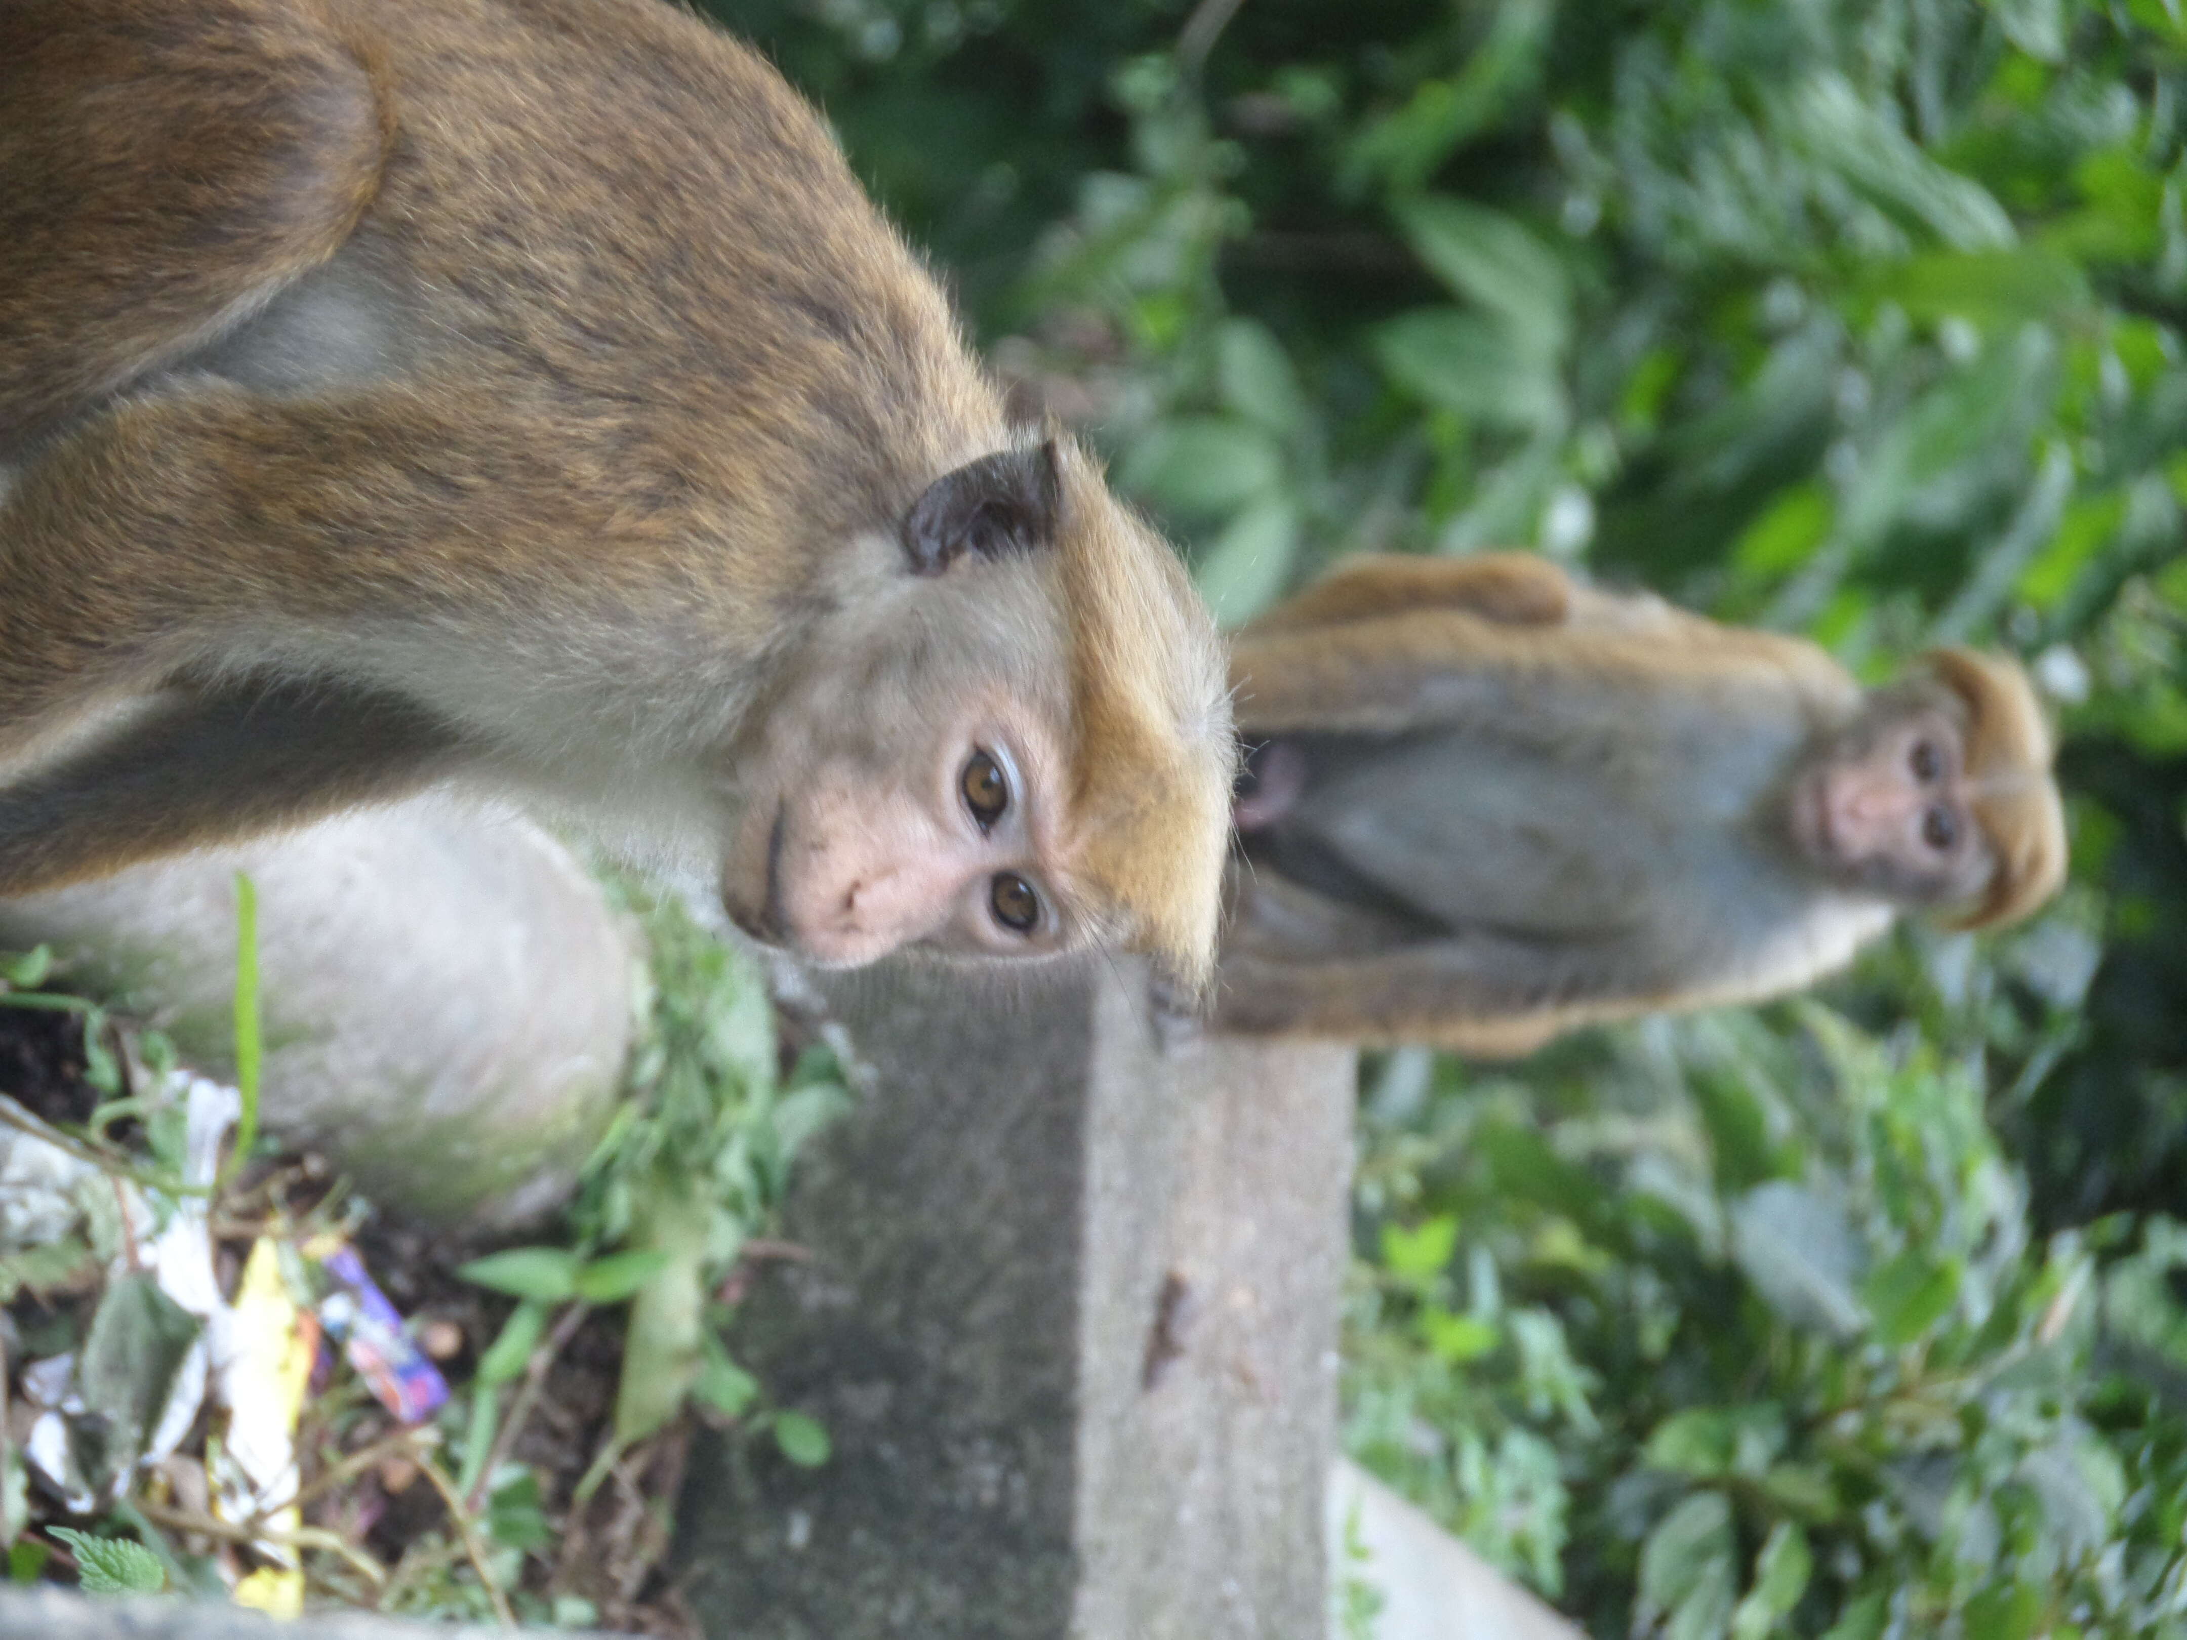
[[(1336, 1461), (1328, 1509), (1332, 1577), (1380, 1596), (1373, 1640), (1586, 1640), (1358, 1465)], [(1354, 1559), (1347, 1542), (1365, 1559)]]

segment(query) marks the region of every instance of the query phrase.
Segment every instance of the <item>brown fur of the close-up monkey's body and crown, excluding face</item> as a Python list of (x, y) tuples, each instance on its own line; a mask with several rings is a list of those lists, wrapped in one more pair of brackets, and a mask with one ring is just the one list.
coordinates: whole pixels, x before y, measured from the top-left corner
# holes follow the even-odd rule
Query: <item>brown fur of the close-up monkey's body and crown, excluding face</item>
[[(339, 389), (221, 380), (219, 337), (313, 269), (370, 286), (370, 365)], [(733, 752), (864, 595), (846, 542), (1017, 437), (820, 120), (691, 15), (0, 7), (0, 757), (182, 682), (258, 827), (429, 778), (448, 739), (507, 741), (501, 680), (542, 706), (534, 761), (558, 733)], [(1227, 833), (1220, 652), (1069, 450), (1056, 544), (1069, 875), (1196, 975)], [(367, 739), (405, 741), (387, 770), (313, 774), (339, 711), (284, 700), (286, 763), (221, 728), (289, 678), (405, 695), (426, 641), (488, 684), (365, 711)], [(199, 803), (173, 835), (4, 831), (22, 890), (221, 827)]]

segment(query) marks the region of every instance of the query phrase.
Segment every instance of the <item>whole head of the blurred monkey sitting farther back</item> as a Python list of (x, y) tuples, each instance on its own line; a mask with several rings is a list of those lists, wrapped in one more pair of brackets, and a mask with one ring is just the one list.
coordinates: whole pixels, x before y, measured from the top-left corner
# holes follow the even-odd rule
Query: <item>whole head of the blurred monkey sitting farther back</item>
[(1793, 781), (1793, 842), (1844, 888), (1940, 907), (1955, 927), (2010, 923), (2065, 881), (2051, 752), (2012, 660), (1935, 649)]

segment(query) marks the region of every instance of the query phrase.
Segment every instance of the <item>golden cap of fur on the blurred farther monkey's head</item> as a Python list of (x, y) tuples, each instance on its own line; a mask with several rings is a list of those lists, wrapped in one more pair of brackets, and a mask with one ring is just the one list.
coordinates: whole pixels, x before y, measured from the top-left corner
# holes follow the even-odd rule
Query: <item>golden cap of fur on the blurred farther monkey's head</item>
[(2049, 724), (2019, 663), (1973, 649), (1931, 649), (1922, 665), (1966, 706), (1966, 774), (1975, 822), (1997, 875), (1957, 927), (1995, 927), (2034, 912), (2065, 881), (2065, 805), (2051, 778)]

